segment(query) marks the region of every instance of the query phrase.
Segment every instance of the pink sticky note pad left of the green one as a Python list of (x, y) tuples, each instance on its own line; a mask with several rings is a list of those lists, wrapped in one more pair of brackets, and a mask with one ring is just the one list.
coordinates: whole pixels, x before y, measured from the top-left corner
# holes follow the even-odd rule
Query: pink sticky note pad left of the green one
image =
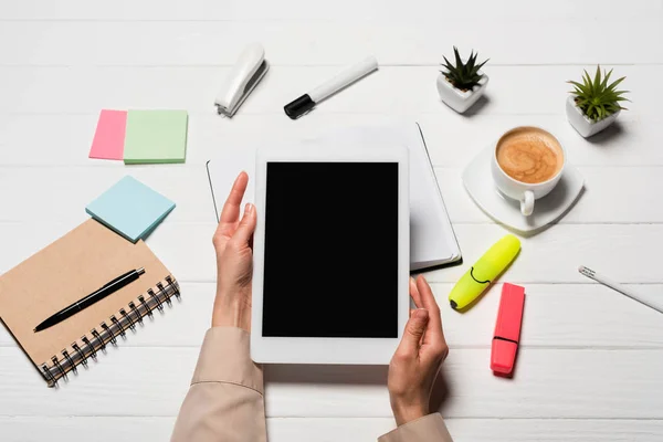
[(126, 110), (102, 109), (90, 148), (90, 158), (123, 159)]

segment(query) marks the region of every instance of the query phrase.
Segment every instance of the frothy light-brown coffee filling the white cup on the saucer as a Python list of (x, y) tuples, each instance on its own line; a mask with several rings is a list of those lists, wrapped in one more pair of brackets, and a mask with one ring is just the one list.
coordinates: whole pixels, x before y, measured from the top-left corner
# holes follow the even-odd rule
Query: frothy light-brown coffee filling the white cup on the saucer
[(516, 181), (539, 183), (555, 178), (564, 167), (561, 145), (537, 127), (506, 133), (495, 152), (499, 168)]

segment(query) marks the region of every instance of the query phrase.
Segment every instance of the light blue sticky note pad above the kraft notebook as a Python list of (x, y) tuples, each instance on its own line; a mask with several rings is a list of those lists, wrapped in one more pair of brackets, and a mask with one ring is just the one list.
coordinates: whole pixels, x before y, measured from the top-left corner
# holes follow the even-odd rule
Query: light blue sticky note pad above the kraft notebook
[(134, 177), (124, 177), (85, 211), (95, 220), (136, 242), (149, 233), (175, 209), (175, 202)]

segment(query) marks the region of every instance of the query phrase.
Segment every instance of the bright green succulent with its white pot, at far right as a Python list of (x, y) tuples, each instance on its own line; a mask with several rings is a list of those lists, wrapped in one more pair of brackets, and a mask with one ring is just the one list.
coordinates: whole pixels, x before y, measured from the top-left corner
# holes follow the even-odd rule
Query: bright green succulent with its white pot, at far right
[(573, 91), (567, 98), (567, 118), (569, 123), (585, 138), (590, 137), (610, 126), (617, 119), (619, 113), (625, 108), (621, 107), (620, 102), (628, 101), (622, 95), (628, 91), (618, 91), (617, 86), (625, 78), (608, 84), (610, 72), (597, 66), (597, 73), (593, 81), (585, 71), (582, 83), (569, 81), (573, 85)]

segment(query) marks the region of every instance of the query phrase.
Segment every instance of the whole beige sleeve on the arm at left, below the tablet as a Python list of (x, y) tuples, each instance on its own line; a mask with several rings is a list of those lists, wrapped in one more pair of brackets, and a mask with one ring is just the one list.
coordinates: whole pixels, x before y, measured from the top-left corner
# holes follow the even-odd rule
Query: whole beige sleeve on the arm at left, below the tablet
[(265, 442), (263, 375), (249, 354), (249, 334), (210, 328), (171, 442)]

